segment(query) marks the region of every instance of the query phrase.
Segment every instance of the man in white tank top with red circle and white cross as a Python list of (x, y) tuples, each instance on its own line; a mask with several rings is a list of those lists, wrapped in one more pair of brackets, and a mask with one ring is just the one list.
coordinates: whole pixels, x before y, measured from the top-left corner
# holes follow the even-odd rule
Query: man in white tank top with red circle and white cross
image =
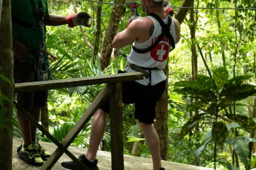
[[(141, 5), (145, 12), (155, 13), (165, 22), (165, 24), (167, 23), (167, 15), (165, 14), (162, 0), (141, 0)], [(180, 24), (175, 19), (172, 19), (172, 21), (170, 33), (175, 41), (175, 44), (177, 44), (180, 40)], [(161, 34), (161, 32), (161, 26), (153, 17), (146, 16), (143, 18), (138, 18), (132, 21), (124, 31), (117, 33), (113, 40), (113, 47), (123, 48), (132, 44), (137, 48), (145, 49), (154, 43), (153, 41)], [(144, 77), (143, 80), (137, 81), (138, 83), (144, 86), (151, 83), (153, 88), (154, 86), (158, 86), (157, 84), (160, 84), (166, 79), (161, 69), (164, 69), (166, 65), (170, 46), (169, 39), (163, 38), (159, 44), (148, 53), (138, 54), (134, 52), (133, 49), (131, 50), (131, 53), (127, 56), (127, 62), (140, 67), (157, 67), (157, 69), (159, 69), (151, 70), (151, 82), (149, 78)], [(134, 70), (128, 66), (126, 71), (133, 72)], [(149, 72), (148, 70), (146, 71)], [(138, 124), (145, 135), (146, 142), (153, 159), (153, 169), (164, 170), (161, 165), (159, 139), (153, 124), (143, 123), (140, 120)]]

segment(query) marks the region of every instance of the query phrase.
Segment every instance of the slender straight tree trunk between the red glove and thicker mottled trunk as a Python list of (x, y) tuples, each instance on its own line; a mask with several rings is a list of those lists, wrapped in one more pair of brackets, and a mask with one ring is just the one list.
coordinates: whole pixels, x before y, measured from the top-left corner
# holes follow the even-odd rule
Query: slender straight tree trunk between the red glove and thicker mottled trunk
[[(102, 2), (103, 0), (100, 0)], [(93, 45), (93, 64), (97, 61), (97, 56), (99, 53), (99, 44), (100, 44), (100, 26), (101, 26), (101, 11), (102, 3), (97, 4), (97, 17), (96, 17), (96, 31)]]

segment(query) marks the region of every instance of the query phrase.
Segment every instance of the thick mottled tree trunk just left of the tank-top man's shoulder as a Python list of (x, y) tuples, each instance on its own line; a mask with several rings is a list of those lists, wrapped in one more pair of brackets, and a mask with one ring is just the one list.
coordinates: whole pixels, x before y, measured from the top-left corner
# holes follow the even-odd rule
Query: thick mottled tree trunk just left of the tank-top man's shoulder
[[(125, 0), (115, 0), (114, 3), (124, 4)], [(113, 51), (112, 41), (118, 31), (119, 22), (121, 21), (124, 12), (124, 7), (120, 5), (115, 5), (111, 12), (107, 33), (102, 43), (100, 55), (100, 68), (102, 71), (110, 64), (111, 53)]]

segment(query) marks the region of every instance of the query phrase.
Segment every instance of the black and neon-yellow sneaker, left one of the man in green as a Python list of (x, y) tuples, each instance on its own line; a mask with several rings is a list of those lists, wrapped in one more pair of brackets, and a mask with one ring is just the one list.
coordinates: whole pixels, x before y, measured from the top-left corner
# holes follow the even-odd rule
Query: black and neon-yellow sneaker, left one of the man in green
[(41, 158), (38, 151), (35, 149), (35, 145), (33, 144), (30, 144), (27, 147), (24, 147), (22, 145), (21, 149), (19, 149), (18, 151), (18, 156), (20, 159), (24, 160), (27, 164), (30, 165), (42, 166), (44, 164), (43, 159)]

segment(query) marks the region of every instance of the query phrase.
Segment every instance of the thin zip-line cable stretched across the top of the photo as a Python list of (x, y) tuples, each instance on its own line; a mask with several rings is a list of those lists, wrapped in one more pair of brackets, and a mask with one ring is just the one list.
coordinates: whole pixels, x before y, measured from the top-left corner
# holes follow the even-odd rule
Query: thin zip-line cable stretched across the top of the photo
[[(102, 4), (110, 4), (110, 5), (119, 5), (119, 6), (127, 6), (123, 4), (116, 4), (116, 3), (109, 3), (109, 2), (100, 2), (100, 1), (93, 1), (93, 0), (84, 0), (84, 1), (89, 1), (89, 2), (97, 2), (97, 3), (102, 3)], [(140, 6), (141, 7), (141, 6)], [(225, 7), (173, 7), (172, 8), (189, 8), (189, 9), (202, 9), (202, 10), (256, 10), (256, 8), (225, 8)]]

